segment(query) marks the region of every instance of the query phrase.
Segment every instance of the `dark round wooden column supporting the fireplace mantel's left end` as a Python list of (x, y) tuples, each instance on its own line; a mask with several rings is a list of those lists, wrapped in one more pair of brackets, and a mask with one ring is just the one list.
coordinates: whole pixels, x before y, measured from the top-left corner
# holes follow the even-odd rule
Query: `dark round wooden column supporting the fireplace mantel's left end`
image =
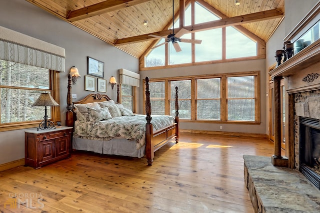
[(281, 156), (281, 86), (280, 80), (282, 77), (273, 78), (274, 91), (274, 151), (271, 157), (273, 166), (288, 167), (288, 159)]

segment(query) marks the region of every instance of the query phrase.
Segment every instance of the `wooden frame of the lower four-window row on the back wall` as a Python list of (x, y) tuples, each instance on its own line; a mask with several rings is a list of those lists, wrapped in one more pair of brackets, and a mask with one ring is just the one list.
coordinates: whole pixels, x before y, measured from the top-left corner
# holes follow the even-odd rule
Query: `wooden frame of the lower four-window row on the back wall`
[[(254, 121), (234, 121), (227, 120), (227, 77), (239, 77), (239, 76), (254, 76)], [(220, 78), (220, 120), (197, 120), (196, 119), (196, 80), (206, 78)], [(164, 114), (170, 114), (170, 81), (176, 80), (191, 80), (191, 119), (179, 118), (181, 122), (197, 122), (197, 123), (228, 123), (228, 124), (260, 124), (260, 71), (248, 71), (248, 72), (236, 72), (236, 73), (223, 73), (213, 75), (196, 75), (185, 77), (167, 77), (167, 78), (150, 78), (149, 82), (164, 81), (165, 87), (165, 110)], [(145, 80), (143, 79), (143, 89), (145, 90)], [(143, 93), (143, 113), (145, 114), (145, 94)], [(152, 115), (151, 115), (152, 116)]]

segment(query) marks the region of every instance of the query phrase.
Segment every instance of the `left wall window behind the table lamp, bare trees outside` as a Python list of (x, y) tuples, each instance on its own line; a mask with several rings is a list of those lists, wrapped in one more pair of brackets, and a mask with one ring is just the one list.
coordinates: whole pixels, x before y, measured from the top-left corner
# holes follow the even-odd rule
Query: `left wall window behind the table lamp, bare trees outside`
[[(58, 77), (54, 74), (45, 68), (0, 60), (0, 131), (36, 126), (43, 120), (44, 107), (31, 105), (45, 92), (59, 101), (58, 90), (53, 94), (50, 84), (51, 77)], [(60, 119), (56, 112), (59, 107), (47, 107), (47, 115), (53, 121)]]

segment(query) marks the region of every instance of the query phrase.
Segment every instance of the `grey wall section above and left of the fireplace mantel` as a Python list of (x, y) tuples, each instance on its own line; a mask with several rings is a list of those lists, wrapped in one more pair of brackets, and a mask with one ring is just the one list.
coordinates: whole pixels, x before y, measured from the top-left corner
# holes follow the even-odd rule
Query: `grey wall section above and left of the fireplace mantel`
[[(285, 16), (277, 27), (273, 35), (266, 43), (266, 59), (265, 69), (268, 70), (275, 61), (275, 50), (282, 49), (283, 39), (288, 35), (291, 30), (300, 22), (300, 20), (312, 9), (318, 0), (285, 0)], [(265, 78), (268, 79), (268, 73), (265, 73)], [(268, 91), (268, 83), (265, 84), (266, 91)], [(268, 102), (266, 101), (266, 104)], [(268, 106), (266, 106), (268, 108)], [(267, 121), (266, 132), (268, 132), (268, 110), (265, 114)]]

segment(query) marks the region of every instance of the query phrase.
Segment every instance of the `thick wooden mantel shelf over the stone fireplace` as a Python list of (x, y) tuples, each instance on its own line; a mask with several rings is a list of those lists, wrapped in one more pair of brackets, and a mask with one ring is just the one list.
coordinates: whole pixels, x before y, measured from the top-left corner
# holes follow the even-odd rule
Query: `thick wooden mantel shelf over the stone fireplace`
[(320, 62), (320, 39), (313, 42), (269, 72), (273, 77), (287, 77)]

